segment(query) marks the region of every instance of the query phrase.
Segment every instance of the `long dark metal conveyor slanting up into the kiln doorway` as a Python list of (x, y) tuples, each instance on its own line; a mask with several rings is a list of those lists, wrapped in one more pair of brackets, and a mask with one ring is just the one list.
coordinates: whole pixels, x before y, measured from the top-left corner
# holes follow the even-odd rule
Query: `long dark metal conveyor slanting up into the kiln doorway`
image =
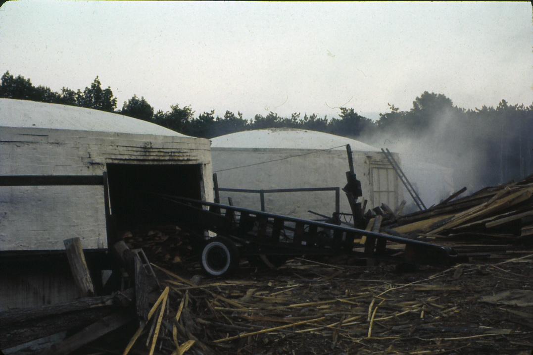
[[(165, 204), (166, 217), (173, 223), (196, 236), (204, 237), (207, 230), (228, 238), (239, 248), (240, 256), (348, 254), (437, 266), (451, 265), (457, 256), (450, 247), (345, 225), (178, 196), (152, 196), (157, 197), (159, 206)], [(390, 248), (393, 245), (396, 247)]]

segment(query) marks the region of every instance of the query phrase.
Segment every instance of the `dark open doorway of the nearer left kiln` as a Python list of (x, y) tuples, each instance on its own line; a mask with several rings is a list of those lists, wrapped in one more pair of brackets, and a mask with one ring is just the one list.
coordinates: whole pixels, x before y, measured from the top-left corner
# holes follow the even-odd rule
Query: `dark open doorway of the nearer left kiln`
[(202, 196), (199, 164), (107, 164), (107, 173), (111, 217), (118, 230), (171, 222), (167, 204), (159, 203), (151, 193)]

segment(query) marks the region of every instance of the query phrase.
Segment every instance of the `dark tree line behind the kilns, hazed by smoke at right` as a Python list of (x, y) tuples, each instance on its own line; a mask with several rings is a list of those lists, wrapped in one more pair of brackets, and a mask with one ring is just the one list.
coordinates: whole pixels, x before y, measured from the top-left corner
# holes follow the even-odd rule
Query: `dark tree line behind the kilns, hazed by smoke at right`
[[(482, 175), (477, 180), (486, 184), (503, 183), (533, 173), (533, 103), (512, 105), (502, 100), (496, 107), (472, 110), (455, 106), (444, 94), (425, 91), (415, 98), (409, 110), (389, 104), (389, 110), (379, 114), (375, 122), (349, 107), (341, 107), (338, 118), (314, 113), (302, 116), (301, 112), (294, 112), (290, 117), (269, 112), (245, 118), (241, 112), (231, 111), (225, 111), (222, 116), (215, 115), (214, 110), (196, 115), (190, 105), (177, 103), (167, 111), (155, 111), (143, 96), (137, 95), (117, 109), (117, 98), (109, 86), (102, 88), (98, 76), (84, 90), (62, 87), (60, 92), (55, 92), (47, 86), (34, 86), (29, 78), (15, 77), (9, 71), (0, 79), (0, 97), (116, 112), (201, 138), (270, 127), (349, 136), (400, 152), (417, 150), (429, 162), (438, 160), (450, 167), (460, 163), (461, 169), (456, 173), (460, 181), (471, 179), (474, 172), (470, 170)], [(435, 160), (436, 152), (447, 159)]]

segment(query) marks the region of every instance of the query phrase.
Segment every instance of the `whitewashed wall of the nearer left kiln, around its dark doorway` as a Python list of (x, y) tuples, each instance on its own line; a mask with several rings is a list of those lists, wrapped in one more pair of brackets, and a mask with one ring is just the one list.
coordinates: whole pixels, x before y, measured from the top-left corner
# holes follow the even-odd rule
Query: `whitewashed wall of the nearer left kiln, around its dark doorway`
[[(101, 175), (107, 163), (200, 164), (213, 198), (206, 139), (0, 127), (0, 175)], [(0, 251), (107, 247), (103, 187), (0, 187)]]

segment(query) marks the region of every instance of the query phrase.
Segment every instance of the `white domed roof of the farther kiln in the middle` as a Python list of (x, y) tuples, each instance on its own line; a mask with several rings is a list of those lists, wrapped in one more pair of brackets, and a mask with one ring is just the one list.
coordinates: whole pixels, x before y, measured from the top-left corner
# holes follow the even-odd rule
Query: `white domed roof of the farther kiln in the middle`
[(211, 142), (212, 148), (329, 149), (350, 144), (353, 151), (381, 151), (354, 139), (296, 128), (265, 128), (263, 130), (243, 131), (221, 135), (213, 138)]

